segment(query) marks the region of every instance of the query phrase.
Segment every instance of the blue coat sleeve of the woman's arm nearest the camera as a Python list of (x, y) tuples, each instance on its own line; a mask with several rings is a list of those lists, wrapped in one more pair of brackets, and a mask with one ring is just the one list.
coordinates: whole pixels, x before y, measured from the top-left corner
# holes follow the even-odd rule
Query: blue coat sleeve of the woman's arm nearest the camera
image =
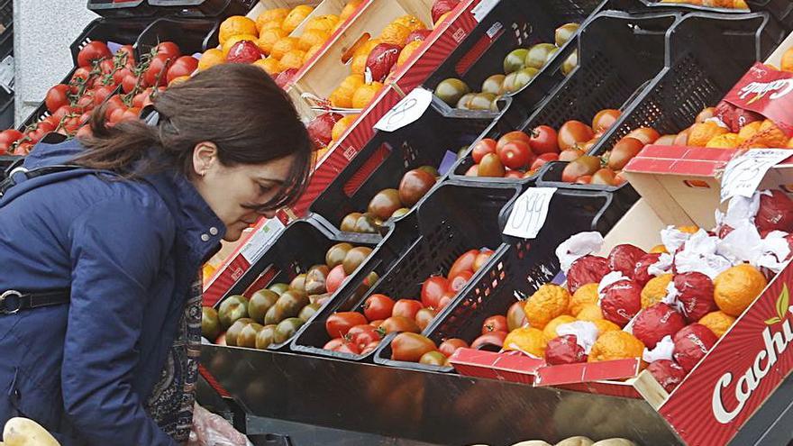
[(176, 446), (132, 389), (147, 290), (175, 233), (161, 202), (91, 206), (71, 227), (72, 285), (61, 372), (70, 423), (90, 444)]

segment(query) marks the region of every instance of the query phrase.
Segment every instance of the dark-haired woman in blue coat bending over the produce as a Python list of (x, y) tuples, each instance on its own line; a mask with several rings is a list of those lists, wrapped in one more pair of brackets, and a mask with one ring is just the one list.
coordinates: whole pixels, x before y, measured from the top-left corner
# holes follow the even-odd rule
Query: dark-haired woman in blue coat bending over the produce
[(67, 445), (187, 440), (196, 274), (300, 195), (311, 143), (253, 66), (208, 69), (154, 108), (39, 144), (0, 198), (0, 426), (26, 416)]

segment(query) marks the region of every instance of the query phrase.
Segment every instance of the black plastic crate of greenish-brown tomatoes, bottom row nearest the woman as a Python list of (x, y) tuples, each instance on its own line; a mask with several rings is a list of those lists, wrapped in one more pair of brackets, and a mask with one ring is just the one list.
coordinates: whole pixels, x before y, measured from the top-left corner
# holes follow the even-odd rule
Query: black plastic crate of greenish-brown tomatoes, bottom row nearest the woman
[[(332, 231), (313, 217), (296, 220), (290, 223), (278, 238), (266, 248), (261, 258), (246, 270), (234, 285), (214, 305), (219, 308), (228, 296), (242, 295), (250, 297), (256, 291), (269, 287), (274, 283), (289, 283), (297, 275), (305, 273), (312, 266), (323, 264), (325, 252), (336, 243), (348, 242), (353, 246), (372, 248), (369, 259), (361, 264), (344, 282), (341, 288), (331, 297), (324, 308), (334, 305), (342, 296), (355, 295), (363, 280), (374, 271), (380, 277), (390, 265), (399, 258), (413, 241), (414, 233), (405, 227), (403, 230), (392, 231), (383, 243), (372, 243), (365, 237), (356, 234)], [(314, 314), (311, 323), (320, 312)], [(280, 344), (269, 346), (268, 350), (285, 350), (291, 339)], [(241, 347), (242, 348), (242, 347)]]

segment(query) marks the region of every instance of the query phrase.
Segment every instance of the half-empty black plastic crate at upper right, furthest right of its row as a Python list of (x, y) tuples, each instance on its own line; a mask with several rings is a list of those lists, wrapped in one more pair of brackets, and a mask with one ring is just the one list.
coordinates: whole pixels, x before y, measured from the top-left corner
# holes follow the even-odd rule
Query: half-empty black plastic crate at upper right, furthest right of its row
[[(713, 106), (732, 89), (756, 60), (763, 60), (784, 38), (768, 13), (685, 15), (670, 32), (668, 67), (623, 110), (591, 155), (601, 155), (639, 127), (661, 134), (677, 133), (694, 123), (697, 114)], [(573, 187), (625, 194), (633, 189), (561, 182), (565, 162), (549, 163), (537, 182), (544, 187)]]

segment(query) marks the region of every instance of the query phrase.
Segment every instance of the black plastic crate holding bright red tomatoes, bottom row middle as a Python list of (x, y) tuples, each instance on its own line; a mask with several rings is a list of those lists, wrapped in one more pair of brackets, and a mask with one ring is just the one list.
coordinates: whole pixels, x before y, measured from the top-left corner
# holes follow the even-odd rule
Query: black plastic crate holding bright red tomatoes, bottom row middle
[[(291, 349), (299, 353), (355, 361), (370, 361), (374, 351), (366, 355), (324, 350), (330, 341), (325, 330), (328, 316), (336, 312), (360, 312), (366, 299), (375, 293), (393, 299), (418, 299), (424, 280), (439, 271), (448, 271), (454, 260), (467, 250), (490, 248), (496, 253), (509, 248), (505, 236), (501, 235), (503, 209), (515, 201), (521, 188), (517, 185), (463, 185), (446, 181), (424, 197), (412, 213), (415, 220), (404, 218), (396, 222), (397, 230), (410, 226), (419, 234), (417, 240), (396, 261), (387, 273), (380, 275), (378, 282), (364, 296), (347, 293), (333, 300), (297, 332)], [(387, 243), (387, 242), (386, 242)], [(517, 241), (515, 241), (517, 243)], [(480, 269), (471, 278), (453, 302), (465, 295), (465, 289), (475, 283), (487, 268)]]

